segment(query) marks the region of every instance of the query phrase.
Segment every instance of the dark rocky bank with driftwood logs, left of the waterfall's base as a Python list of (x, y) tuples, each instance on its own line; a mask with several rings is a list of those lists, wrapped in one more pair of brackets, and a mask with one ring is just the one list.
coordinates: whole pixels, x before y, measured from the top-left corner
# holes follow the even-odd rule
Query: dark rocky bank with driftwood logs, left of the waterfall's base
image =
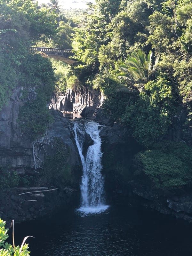
[[(78, 204), (79, 191), (77, 190), (64, 187), (63, 190), (19, 195), (29, 191), (34, 190), (15, 188), (1, 191), (0, 217), (6, 221), (7, 226), (10, 227), (11, 220), (16, 223), (34, 220), (51, 215), (61, 207), (68, 209)], [(38, 196), (39, 194), (44, 196)]]

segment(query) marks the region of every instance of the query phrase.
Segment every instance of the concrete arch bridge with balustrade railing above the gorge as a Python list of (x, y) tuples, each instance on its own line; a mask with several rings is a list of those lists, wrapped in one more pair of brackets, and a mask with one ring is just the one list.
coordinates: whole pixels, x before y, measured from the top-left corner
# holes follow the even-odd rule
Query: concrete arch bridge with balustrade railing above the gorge
[(70, 66), (72, 66), (73, 63), (76, 62), (73, 59), (69, 59), (70, 56), (73, 56), (73, 53), (70, 49), (30, 47), (30, 50), (35, 52), (44, 52), (49, 58), (64, 61)]

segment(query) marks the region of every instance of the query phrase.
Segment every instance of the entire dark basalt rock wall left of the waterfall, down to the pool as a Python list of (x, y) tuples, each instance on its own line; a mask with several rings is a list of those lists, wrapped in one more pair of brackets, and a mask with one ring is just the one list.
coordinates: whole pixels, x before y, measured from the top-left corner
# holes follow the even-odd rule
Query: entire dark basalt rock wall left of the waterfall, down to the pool
[[(34, 173), (33, 141), (21, 134), (17, 123), (21, 88), (16, 88), (10, 98), (7, 107), (0, 111), (0, 167), (7, 171), (16, 171), (19, 174)], [(52, 141), (55, 137), (68, 147), (68, 168), (72, 171), (71, 187), (59, 188), (50, 192), (44, 192), (44, 196), (19, 195), (26, 192), (16, 189), (3, 189), (0, 191), (0, 217), (3, 220), (15, 222), (32, 220), (44, 215), (49, 215), (59, 207), (68, 207), (79, 200), (79, 180), (82, 175), (73, 134), (70, 130), (70, 120), (63, 117), (60, 111), (52, 110), (54, 121), (40, 138), (37, 144), (43, 146), (40, 160), (36, 158), (39, 166), (47, 155), (52, 153)], [(35, 151), (37, 148), (35, 148)], [(36, 152), (37, 153), (37, 152)], [(38, 171), (38, 170), (37, 170)], [(54, 170), (53, 170), (54, 172)], [(30, 191), (30, 190), (28, 190)], [(38, 193), (35, 193), (38, 194)], [(30, 194), (30, 195), (33, 195)], [(37, 200), (36, 200), (37, 199)]]

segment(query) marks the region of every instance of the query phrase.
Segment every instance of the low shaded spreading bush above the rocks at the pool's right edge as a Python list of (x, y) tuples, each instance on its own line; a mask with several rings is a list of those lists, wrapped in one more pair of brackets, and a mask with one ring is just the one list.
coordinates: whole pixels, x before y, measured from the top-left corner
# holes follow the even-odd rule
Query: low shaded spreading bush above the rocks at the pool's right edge
[(183, 142), (162, 141), (135, 156), (135, 174), (144, 173), (156, 188), (183, 188), (192, 182), (191, 154)]

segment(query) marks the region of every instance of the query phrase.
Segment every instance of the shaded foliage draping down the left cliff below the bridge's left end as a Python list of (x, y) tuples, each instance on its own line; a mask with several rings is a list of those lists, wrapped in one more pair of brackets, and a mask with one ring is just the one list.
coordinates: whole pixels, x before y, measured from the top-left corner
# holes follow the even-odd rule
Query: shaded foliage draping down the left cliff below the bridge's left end
[(28, 93), (20, 108), (19, 123), (22, 132), (35, 140), (43, 135), (52, 121), (46, 105), (54, 89), (55, 78), (50, 61), (40, 54), (29, 55), (22, 73), (21, 83)]

